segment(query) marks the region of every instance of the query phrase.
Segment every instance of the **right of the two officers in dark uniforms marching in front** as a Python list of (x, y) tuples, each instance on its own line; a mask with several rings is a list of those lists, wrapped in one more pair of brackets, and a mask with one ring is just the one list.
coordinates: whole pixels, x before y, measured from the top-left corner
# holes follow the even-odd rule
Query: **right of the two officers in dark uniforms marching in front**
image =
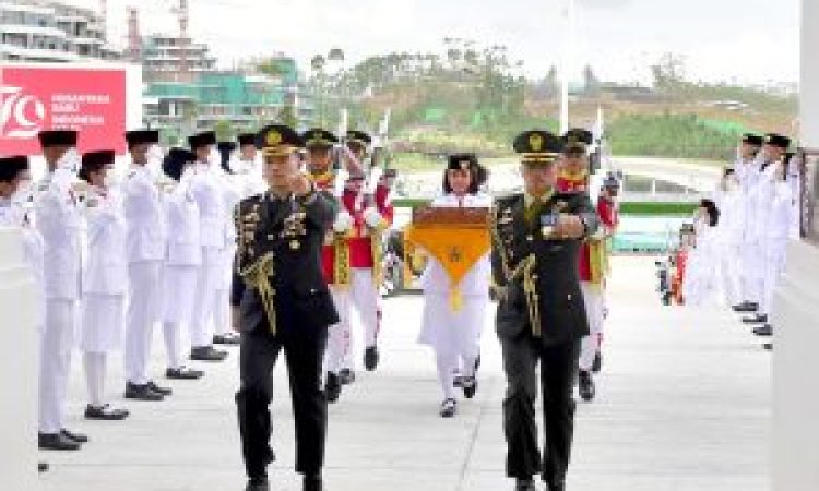
[[(541, 474), (549, 491), (566, 489), (574, 419), (573, 383), (589, 322), (578, 277), (583, 237), (597, 229), (584, 193), (555, 191), (560, 139), (527, 131), (514, 141), (524, 192), (499, 199), (491, 214), (494, 296), (498, 299), (507, 393), (507, 475), (533, 491)], [(537, 362), (543, 391), (544, 448), (537, 445)]]

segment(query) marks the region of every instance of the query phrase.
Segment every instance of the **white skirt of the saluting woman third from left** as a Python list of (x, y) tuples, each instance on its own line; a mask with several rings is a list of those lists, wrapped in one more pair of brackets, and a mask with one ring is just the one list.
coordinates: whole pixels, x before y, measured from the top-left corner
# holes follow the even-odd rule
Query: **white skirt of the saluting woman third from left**
[(82, 301), (80, 349), (108, 352), (122, 346), (124, 295), (85, 294)]

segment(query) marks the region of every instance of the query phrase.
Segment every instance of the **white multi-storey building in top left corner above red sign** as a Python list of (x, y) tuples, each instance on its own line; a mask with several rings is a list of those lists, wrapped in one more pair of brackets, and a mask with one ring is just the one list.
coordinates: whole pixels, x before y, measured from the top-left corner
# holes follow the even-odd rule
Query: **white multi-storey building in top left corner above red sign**
[(97, 12), (45, 0), (0, 0), (0, 60), (118, 60)]

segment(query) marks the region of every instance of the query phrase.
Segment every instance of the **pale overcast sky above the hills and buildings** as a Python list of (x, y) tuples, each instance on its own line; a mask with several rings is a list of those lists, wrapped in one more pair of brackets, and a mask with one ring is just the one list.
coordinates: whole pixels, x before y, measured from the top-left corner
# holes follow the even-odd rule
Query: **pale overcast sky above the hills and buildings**
[[(99, 0), (63, 0), (98, 7)], [(348, 61), (389, 51), (442, 51), (443, 37), (505, 44), (530, 76), (558, 63), (568, 0), (189, 0), (191, 33), (222, 64), (272, 51), (306, 63), (332, 47)], [(685, 57), (695, 80), (798, 79), (798, 0), (577, 0), (578, 65), (604, 80), (648, 81), (663, 52)], [(143, 34), (175, 32), (177, 0), (108, 0), (111, 40), (124, 43), (124, 9)]]

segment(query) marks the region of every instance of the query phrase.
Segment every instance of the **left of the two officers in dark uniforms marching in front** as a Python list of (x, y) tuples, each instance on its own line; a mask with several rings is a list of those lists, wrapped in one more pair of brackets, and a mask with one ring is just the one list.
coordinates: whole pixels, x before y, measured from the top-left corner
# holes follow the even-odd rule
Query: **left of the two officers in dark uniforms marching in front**
[(259, 133), (263, 194), (236, 209), (238, 249), (230, 303), (241, 333), (236, 395), (247, 490), (269, 489), (266, 467), (273, 396), (272, 371), (284, 351), (296, 423), (296, 471), (306, 491), (322, 490), (327, 400), (321, 373), (328, 326), (339, 322), (321, 273), (321, 247), (333, 204), (299, 172), (302, 139), (288, 127)]

